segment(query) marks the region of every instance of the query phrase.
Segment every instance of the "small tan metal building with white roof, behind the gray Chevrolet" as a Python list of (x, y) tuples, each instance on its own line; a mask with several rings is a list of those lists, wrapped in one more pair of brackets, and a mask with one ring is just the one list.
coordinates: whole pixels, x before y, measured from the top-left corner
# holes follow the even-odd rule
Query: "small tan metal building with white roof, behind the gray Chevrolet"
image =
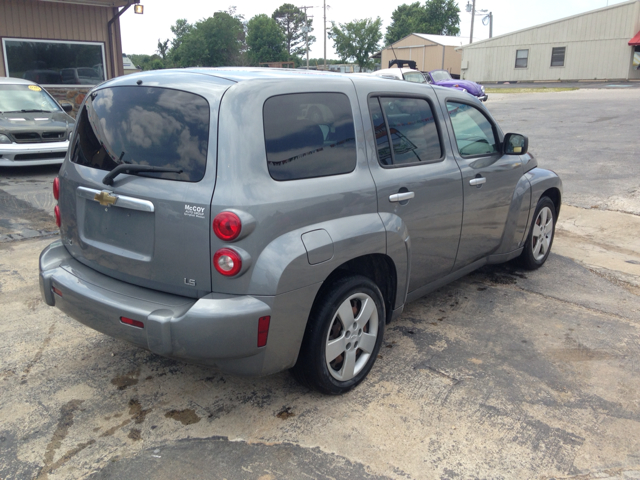
[(389, 68), (389, 62), (395, 59), (413, 60), (421, 71), (440, 69), (459, 75), (462, 56), (456, 48), (468, 41), (465, 37), (412, 33), (380, 52), (380, 66)]

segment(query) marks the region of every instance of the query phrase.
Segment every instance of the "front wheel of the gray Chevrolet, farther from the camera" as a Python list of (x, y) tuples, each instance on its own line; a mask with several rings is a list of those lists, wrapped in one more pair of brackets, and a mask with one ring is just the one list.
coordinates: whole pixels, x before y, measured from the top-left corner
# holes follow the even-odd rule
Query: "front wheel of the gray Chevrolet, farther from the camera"
[(555, 231), (556, 206), (549, 197), (542, 197), (533, 214), (533, 222), (518, 263), (527, 270), (536, 270), (544, 265), (551, 252)]

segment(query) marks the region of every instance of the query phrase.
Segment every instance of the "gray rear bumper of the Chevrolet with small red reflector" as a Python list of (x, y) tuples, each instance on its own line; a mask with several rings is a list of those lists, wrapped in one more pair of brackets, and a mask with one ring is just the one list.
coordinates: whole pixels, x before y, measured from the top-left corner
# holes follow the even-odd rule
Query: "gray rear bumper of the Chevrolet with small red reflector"
[[(60, 241), (40, 255), (40, 291), (48, 305), (80, 323), (159, 355), (237, 374), (272, 373), (265, 371), (267, 347), (257, 346), (258, 319), (272, 312), (268, 299), (221, 294), (193, 299), (127, 284), (74, 260)], [(144, 327), (124, 324), (121, 317)]]

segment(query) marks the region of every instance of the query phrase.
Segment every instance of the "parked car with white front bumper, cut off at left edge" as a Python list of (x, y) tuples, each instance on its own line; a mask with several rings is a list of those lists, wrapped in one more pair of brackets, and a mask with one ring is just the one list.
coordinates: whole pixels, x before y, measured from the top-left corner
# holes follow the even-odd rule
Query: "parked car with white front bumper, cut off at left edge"
[(0, 77), (0, 167), (61, 164), (76, 121), (40, 85)]

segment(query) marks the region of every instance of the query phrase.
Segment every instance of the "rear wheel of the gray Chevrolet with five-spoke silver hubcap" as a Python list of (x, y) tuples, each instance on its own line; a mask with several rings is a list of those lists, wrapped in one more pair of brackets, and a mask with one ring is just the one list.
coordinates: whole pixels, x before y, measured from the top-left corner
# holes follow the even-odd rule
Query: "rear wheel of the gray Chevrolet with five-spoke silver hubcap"
[(319, 295), (292, 373), (309, 388), (339, 395), (362, 382), (376, 361), (384, 301), (378, 286), (360, 275), (343, 277)]

